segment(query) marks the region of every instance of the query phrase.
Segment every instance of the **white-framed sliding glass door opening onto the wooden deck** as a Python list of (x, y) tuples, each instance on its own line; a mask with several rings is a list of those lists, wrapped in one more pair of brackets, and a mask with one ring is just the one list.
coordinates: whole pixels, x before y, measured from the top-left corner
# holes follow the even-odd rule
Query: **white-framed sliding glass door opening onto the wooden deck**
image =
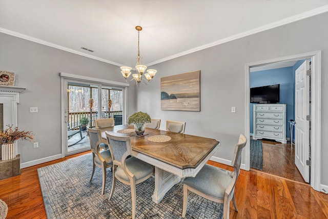
[(126, 93), (129, 84), (60, 73), (61, 155), (90, 150), (86, 126), (95, 127), (98, 118), (114, 118), (125, 124)]

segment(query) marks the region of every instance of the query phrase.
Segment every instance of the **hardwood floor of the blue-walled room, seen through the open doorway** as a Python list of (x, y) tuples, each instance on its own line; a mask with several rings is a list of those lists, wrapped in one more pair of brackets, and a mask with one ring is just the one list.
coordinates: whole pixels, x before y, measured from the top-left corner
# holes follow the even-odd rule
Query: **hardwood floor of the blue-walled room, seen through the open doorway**
[(263, 149), (263, 172), (305, 183), (295, 166), (295, 146), (275, 141), (261, 140)]

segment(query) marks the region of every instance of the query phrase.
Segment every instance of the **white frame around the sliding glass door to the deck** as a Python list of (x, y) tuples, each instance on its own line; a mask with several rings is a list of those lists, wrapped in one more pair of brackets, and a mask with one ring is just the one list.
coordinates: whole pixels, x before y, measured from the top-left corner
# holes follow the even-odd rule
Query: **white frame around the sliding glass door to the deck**
[[(82, 75), (77, 75), (77, 74), (70, 74), (70, 73), (65, 73), (65, 72), (60, 72), (60, 87), (61, 87), (61, 92), (60, 92), (60, 99), (61, 99), (61, 106), (60, 106), (60, 111), (61, 111), (61, 157), (65, 157), (67, 155), (83, 152), (88, 149), (80, 149), (80, 150), (74, 150), (72, 152), (67, 152), (68, 148), (68, 142), (67, 142), (67, 84), (68, 82), (76, 82), (76, 83), (84, 83), (84, 84), (93, 84), (93, 85), (98, 85), (99, 86), (99, 92), (101, 92), (101, 85), (105, 86), (112, 86), (116, 88), (121, 88), (122, 89), (122, 97), (124, 98), (124, 101), (122, 103), (122, 123), (125, 123), (125, 114), (127, 113), (128, 110), (128, 83), (121, 83), (121, 82), (114, 82), (114, 81), (109, 81), (106, 79), (100, 79), (100, 78), (95, 78), (95, 77), (88, 77), (88, 76), (82, 76)], [(99, 103), (99, 102), (98, 102)]]

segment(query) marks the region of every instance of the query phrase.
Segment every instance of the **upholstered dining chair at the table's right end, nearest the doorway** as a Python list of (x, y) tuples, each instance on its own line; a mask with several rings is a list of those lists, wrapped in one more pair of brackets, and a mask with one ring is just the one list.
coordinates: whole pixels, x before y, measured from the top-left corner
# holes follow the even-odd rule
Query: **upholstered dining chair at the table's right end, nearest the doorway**
[(230, 201), (238, 212), (235, 202), (235, 184), (240, 171), (241, 151), (245, 147), (247, 138), (239, 135), (238, 144), (232, 159), (234, 171), (224, 171), (206, 164), (195, 177), (187, 177), (183, 181), (182, 217), (186, 216), (188, 193), (192, 191), (213, 202), (223, 203), (223, 218), (229, 219)]

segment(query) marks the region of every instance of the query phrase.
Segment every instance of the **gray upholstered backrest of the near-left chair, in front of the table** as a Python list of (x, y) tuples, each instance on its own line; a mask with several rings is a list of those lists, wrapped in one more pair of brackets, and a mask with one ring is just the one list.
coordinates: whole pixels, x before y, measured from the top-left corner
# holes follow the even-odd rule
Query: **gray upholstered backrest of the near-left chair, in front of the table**
[(113, 164), (121, 167), (126, 172), (125, 161), (132, 154), (130, 137), (111, 135), (107, 131), (105, 133)]

